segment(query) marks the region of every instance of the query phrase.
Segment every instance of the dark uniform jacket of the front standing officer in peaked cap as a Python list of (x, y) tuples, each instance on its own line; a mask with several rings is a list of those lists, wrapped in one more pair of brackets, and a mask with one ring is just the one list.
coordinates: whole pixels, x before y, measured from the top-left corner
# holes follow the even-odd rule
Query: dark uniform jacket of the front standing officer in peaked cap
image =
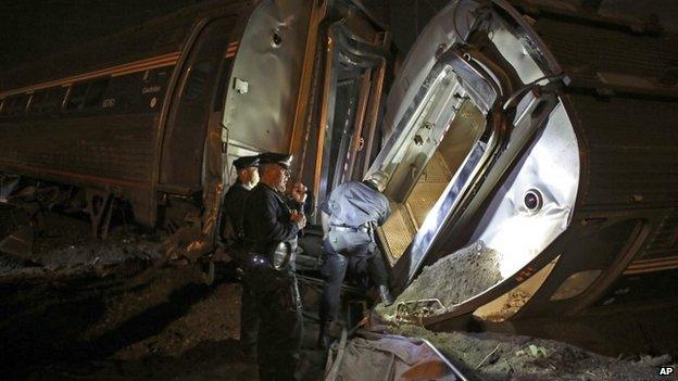
[(259, 183), (244, 203), (244, 240), (253, 252), (272, 253), (278, 243), (297, 238), (299, 227), (290, 220), (287, 198), (273, 188)]

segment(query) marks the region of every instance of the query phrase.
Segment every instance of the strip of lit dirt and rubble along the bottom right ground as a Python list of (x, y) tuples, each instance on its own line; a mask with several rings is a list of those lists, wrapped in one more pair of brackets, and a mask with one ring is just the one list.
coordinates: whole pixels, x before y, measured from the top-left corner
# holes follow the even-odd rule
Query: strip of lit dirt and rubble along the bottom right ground
[(430, 332), (417, 326), (391, 330), (430, 341), (468, 379), (477, 380), (652, 380), (658, 366), (671, 364), (668, 355), (613, 358), (519, 335)]

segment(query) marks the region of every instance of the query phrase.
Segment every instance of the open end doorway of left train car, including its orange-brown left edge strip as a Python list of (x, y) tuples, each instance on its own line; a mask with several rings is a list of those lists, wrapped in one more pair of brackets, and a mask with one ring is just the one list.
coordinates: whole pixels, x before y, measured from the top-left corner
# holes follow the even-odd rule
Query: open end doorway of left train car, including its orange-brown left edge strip
[(298, 157), (292, 173), (322, 202), (337, 185), (362, 179), (379, 148), (390, 35), (361, 1), (316, 5), (290, 152)]

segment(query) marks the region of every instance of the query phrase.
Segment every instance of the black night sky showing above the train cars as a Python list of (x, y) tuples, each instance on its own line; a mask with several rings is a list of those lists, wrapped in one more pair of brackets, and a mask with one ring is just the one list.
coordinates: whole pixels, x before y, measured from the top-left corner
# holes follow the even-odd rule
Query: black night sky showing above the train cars
[[(179, 8), (208, 0), (0, 0), (1, 72), (24, 62), (136, 27)], [(532, 0), (556, 7), (578, 7), (590, 0)], [(449, 0), (363, 0), (392, 26), (393, 41), (406, 51), (426, 23)], [(530, 1), (527, 1), (530, 2)], [(678, 29), (676, 0), (603, 0), (600, 13), (627, 20), (655, 17), (667, 29)]]

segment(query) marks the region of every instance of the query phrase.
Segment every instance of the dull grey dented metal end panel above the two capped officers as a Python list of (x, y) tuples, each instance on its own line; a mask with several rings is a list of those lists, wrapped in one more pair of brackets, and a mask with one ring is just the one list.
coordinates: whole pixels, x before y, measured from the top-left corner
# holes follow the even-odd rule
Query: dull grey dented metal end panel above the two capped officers
[(289, 150), (309, 16), (303, 0), (264, 1), (254, 10), (229, 81), (238, 89), (226, 100), (224, 141), (255, 151)]

